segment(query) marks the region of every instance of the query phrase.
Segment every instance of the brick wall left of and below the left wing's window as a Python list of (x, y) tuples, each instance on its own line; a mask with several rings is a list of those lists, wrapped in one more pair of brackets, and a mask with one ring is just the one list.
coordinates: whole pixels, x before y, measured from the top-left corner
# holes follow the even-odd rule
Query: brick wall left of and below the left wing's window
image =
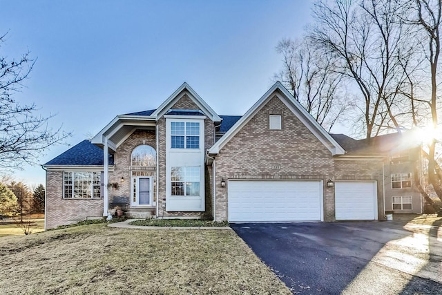
[(102, 199), (63, 198), (63, 171), (46, 171), (46, 204), (46, 229), (103, 215)]

